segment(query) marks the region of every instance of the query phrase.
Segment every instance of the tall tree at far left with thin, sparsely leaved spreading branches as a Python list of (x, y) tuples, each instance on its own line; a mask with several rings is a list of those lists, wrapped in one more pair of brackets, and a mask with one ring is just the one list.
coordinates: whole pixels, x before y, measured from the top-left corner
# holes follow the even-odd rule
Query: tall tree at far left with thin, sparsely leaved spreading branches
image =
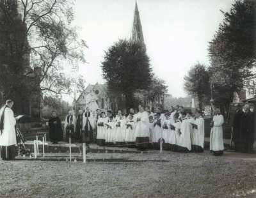
[[(13, 98), (13, 93), (29, 98), (38, 86), (44, 92), (67, 92), (70, 79), (61, 72), (63, 65), (76, 68), (78, 61), (84, 62), (86, 46), (71, 26), (72, 3), (72, 0), (0, 2), (0, 36), (4, 41), (0, 43), (4, 49), (0, 50), (0, 82), (6, 98)], [(36, 83), (31, 83), (35, 80)]]

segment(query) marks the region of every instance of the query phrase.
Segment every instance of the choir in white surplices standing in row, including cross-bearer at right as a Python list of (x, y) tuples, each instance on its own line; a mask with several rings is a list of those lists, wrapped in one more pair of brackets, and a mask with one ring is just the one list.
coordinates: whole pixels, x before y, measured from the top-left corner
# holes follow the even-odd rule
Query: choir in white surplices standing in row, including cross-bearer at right
[[(164, 149), (180, 152), (204, 151), (204, 118), (201, 112), (196, 112), (194, 117), (191, 112), (178, 110), (154, 114), (145, 111), (143, 105), (139, 109), (138, 114), (130, 112), (127, 118), (122, 112), (118, 112), (116, 118), (108, 117), (102, 112), (97, 123), (98, 144), (136, 144), (139, 149), (146, 149), (148, 146), (159, 149), (162, 140)], [(210, 150), (214, 155), (223, 154), (223, 123), (220, 109), (216, 109), (210, 137)]]

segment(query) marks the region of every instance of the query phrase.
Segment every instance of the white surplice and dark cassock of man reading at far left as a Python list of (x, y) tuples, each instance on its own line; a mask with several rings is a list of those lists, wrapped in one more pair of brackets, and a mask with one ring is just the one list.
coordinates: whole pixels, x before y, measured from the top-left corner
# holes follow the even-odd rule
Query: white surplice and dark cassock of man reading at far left
[(0, 152), (3, 160), (14, 160), (17, 156), (15, 125), (12, 109), (4, 105), (0, 109)]

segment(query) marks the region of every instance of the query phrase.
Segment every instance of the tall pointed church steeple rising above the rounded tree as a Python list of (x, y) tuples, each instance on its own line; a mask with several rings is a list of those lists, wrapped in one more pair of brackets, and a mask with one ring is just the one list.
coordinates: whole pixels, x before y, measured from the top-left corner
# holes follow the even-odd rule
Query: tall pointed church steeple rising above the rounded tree
[(131, 40), (132, 40), (132, 42), (140, 42), (143, 45), (145, 45), (137, 1), (135, 1), (135, 10), (134, 10), (134, 19), (133, 19)]

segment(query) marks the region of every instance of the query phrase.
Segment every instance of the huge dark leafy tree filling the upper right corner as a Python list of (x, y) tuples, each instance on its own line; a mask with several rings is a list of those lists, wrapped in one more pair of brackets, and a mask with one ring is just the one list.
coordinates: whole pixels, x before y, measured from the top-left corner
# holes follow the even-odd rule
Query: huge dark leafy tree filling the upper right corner
[(234, 92), (243, 89), (244, 80), (251, 76), (250, 68), (256, 59), (256, 2), (236, 1), (209, 45), (216, 101), (227, 105)]

